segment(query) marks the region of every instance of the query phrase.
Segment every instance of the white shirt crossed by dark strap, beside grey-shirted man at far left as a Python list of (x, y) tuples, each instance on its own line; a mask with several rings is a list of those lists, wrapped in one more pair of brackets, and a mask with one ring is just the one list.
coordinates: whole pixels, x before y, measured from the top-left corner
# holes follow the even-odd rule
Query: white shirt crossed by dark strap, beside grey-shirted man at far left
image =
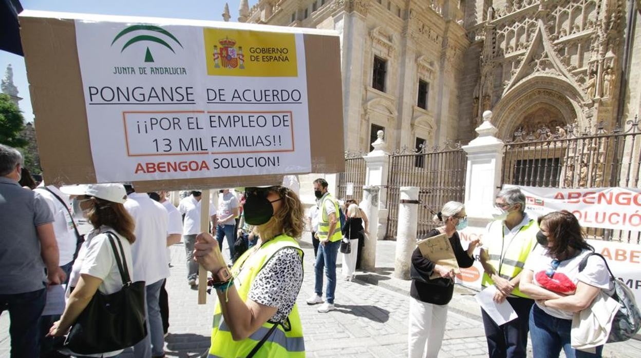
[[(63, 194), (58, 188), (53, 185), (48, 185), (47, 189), (53, 191), (60, 199), (64, 200), (69, 205), (69, 195)], [(69, 215), (67, 208), (56, 199), (49, 191), (45, 188), (37, 188), (37, 191), (49, 204), (49, 209), (53, 213), (53, 231), (56, 234), (56, 241), (58, 242), (58, 251), (60, 252), (60, 259), (58, 261), (58, 266), (63, 266), (65, 264), (71, 263), (74, 259), (74, 253), (76, 252), (76, 231), (74, 230), (73, 219)]]

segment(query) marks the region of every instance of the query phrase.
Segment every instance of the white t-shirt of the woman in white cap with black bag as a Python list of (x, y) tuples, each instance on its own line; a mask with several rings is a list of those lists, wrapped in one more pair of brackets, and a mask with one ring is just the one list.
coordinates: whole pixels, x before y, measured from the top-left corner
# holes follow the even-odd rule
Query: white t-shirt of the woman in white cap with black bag
[[(101, 233), (105, 231), (113, 232), (120, 239), (122, 243), (122, 252), (124, 252), (124, 261), (126, 262), (129, 270), (129, 277), (134, 273), (133, 265), (131, 264), (133, 262), (131, 259), (131, 244), (129, 244), (127, 239), (123, 238), (112, 228), (103, 226), (99, 230), (94, 230), (87, 234), (87, 239), (80, 248), (78, 258), (76, 258), (76, 262), (74, 262), (74, 266), (71, 270), (71, 275), (69, 275), (67, 298), (69, 298), (71, 287), (78, 284), (81, 274), (90, 275), (103, 280), (100, 286), (98, 286), (98, 291), (105, 295), (110, 295), (111, 293), (121, 290), (122, 279), (113, 254), (112, 245), (109, 241), (109, 237), (106, 234)], [(121, 250), (117, 241), (115, 242), (115, 245), (122, 261)], [(112, 357), (113, 355), (120, 354), (121, 352), (122, 350), (116, 350), (113, 352), (106, 352), (104, 354), (87, 355), (90, 357)]]

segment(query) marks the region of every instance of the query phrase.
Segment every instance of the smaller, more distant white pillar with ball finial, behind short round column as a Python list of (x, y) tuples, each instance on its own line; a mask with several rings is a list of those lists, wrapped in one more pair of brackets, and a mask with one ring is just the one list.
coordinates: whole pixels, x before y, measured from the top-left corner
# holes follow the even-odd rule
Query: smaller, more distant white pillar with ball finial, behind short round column
[[(369, 218), (370, 236), (377, 240), (383, 240), (385, 237), (385, 231), (387, 230), (388, 210), (385, 205), (387, 204), (386, 186), (390, 156), (386, 152), (387, 143), (383, 140), (383, 131), (378, 131), (376, 134), (378, 135), (378, 139), (372, 143), (374, 150), (369, 152), (369, 154), (363, 158), (365, 159), (365, 165), (367, 166), (367, 171), (365, 173), (365, 185), (380, 187), (377, 216), (369, 216), (369, 214), (367, 216), (367, 218)], [(374, 232), (372, 231), (372, 227), (374, 226), (378, 227), (378, 234), (376, 236), (372, 234), (372, 232)]]

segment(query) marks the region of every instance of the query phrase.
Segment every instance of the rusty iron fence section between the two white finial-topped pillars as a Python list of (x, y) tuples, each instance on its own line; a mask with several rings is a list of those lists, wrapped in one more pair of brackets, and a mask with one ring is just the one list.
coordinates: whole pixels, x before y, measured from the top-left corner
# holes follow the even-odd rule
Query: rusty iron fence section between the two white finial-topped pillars
[(418, 151), (403, 147), (390, 154), (387, 185), (387, 232), (385, 238), (394, 238), (398, 227), (399, 193), (401, 186), (419, 187), (420, 237), (437, 226), (432, 216), (450, 200), (463, 202), (467, 156), (460, 143), (445, 141), (428, 150)]

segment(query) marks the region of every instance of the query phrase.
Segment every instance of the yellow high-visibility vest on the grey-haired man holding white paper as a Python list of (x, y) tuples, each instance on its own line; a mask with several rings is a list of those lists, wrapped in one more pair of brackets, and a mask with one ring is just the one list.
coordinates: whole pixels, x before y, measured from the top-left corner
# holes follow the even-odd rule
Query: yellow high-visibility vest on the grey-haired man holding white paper
[[(529, 253), (537, 245), (538, 230), (537, 220), (530, 219), (528, 224), (523, 225), (510, 242), (506, 242), (503, 234), (503, 222), (497, 220), (490, 224), (485, 239), (489, 244), (486, 251), (490, 256), (488, 262), (494, 266), (499, 276), (510, 280), (523, 270)], [(481, 286), (487, 287), (493, 284), (494, 281), (490, 279), (490, 276), (483, 273)], [(528, 295), (519, 291), (518, 287), (514, 288), (512, 295), (529, 298)]]

